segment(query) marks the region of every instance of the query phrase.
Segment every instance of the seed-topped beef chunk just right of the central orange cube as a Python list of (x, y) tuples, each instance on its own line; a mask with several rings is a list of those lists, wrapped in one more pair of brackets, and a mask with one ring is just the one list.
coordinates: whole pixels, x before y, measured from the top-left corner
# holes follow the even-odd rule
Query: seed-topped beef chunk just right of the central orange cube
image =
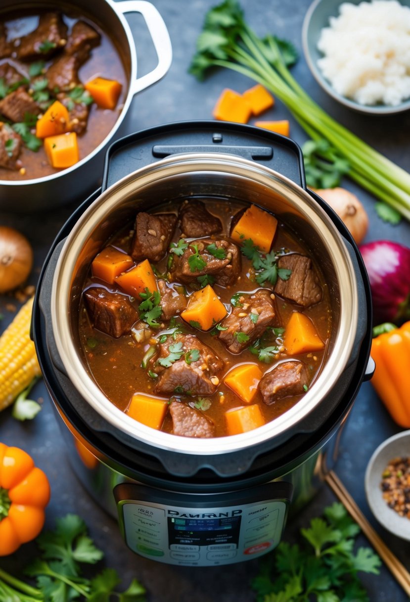
[[(252, 294), (244, 293), (239, 297), (241, 305), (234, 307), (232, 312), (221, 321), (221, 326), (227, 330), (219, 330), (218, 338), (231, 353), (240, 353), (259, 338), (267, 326), (272, 326), (275, 320), (275, 302), (271, 294), (271, 291), (266, 289)], [(239, 343), (235, 337), (237, 332), (248, 335), (249, 340)]]

